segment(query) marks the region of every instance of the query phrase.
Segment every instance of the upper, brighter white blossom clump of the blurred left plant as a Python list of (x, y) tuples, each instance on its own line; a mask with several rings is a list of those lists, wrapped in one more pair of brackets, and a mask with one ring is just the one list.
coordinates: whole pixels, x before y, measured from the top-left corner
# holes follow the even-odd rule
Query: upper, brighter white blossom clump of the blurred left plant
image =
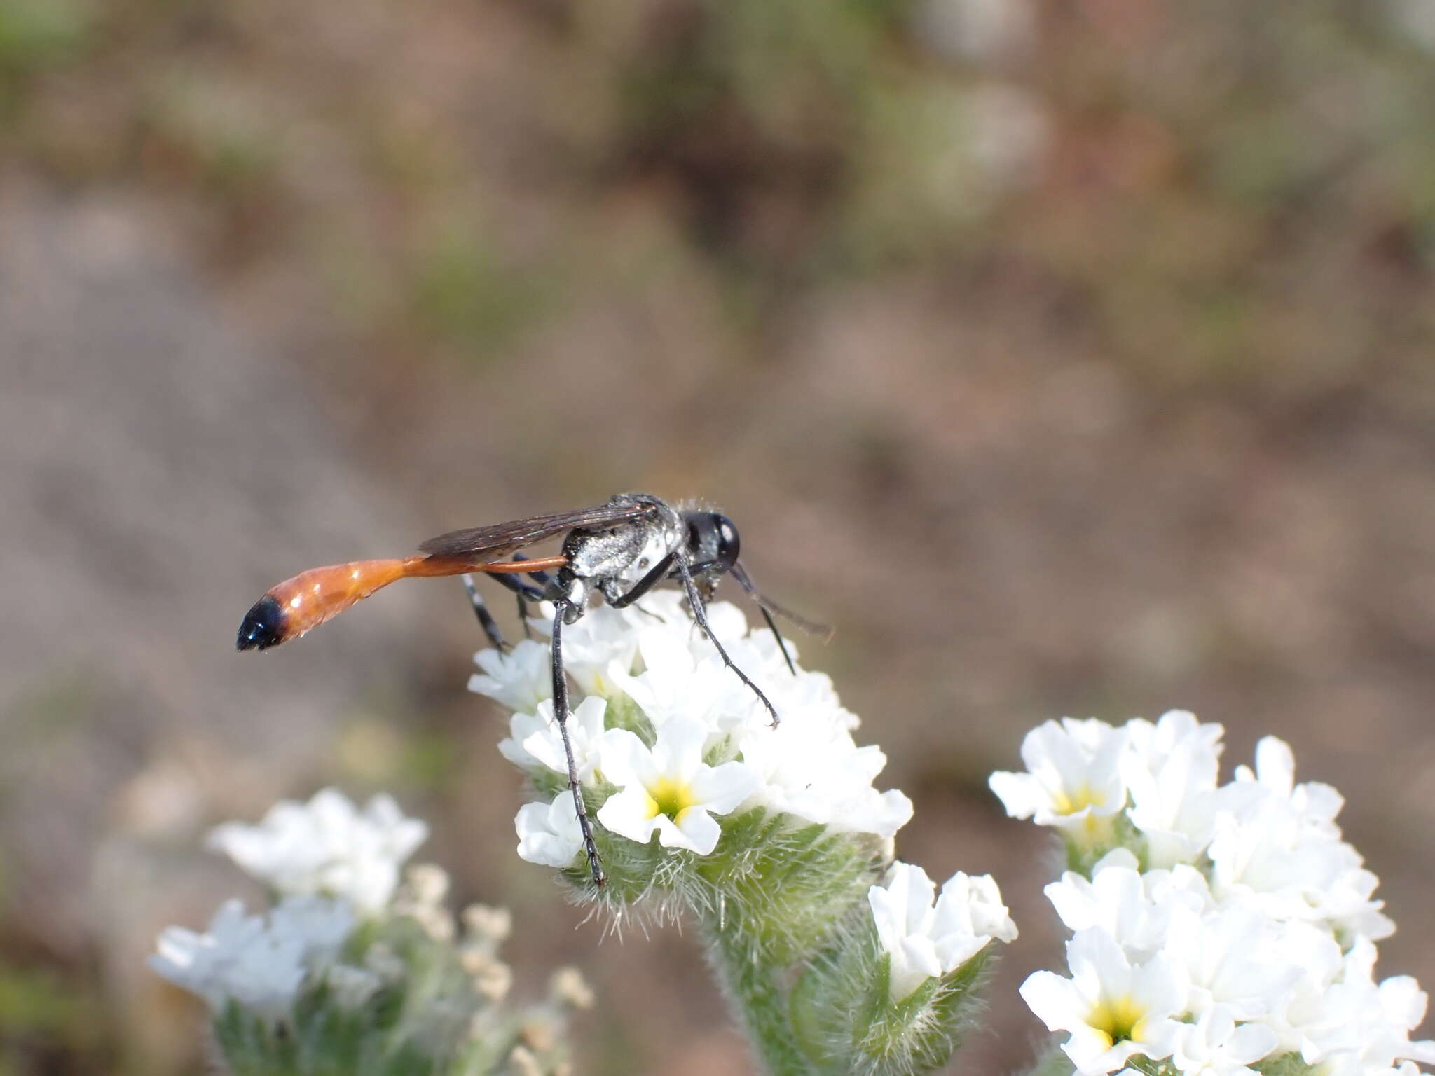
[(309, 803), (280, 801), (258, 825), (217, 826), (205, 844), (281, 894), (344, 897), (373, 915), (428, 832), (390, 796), (375, 796), (360, 812), (342, 792), (324, 789)]

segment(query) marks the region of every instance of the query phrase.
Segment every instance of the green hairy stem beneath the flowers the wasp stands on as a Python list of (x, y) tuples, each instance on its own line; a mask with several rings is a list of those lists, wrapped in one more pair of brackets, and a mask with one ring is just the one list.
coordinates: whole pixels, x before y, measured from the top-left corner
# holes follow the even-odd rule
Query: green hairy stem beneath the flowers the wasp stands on
[[(606, 862), (600, 900), (614, 912), (639, 898), (664, 908), (676, 900), (693, 914), (732, 1016), (769, 1076), (931, 1072), (970, 1023), (986, 953), (905, 999), (888, 997), (888, 957), (867, 905), (884, 862), (870, 838), (749, 811), (725, 819), (709, 856), (667, 854), (654, 872), (630, 846)], [(629, 878), (624, 867), (641, 875)], [(581, 885), (577, 871), (568, 877)]]

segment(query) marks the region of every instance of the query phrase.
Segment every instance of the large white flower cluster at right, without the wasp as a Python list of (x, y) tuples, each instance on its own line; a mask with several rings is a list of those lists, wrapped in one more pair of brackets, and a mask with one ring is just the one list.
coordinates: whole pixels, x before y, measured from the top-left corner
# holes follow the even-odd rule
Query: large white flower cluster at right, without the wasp
[(1046, 887), (1073, 931), (1071, 976), (1038, 971), (1022, 997), (1071, 1033), (1082, 1076), (1154, 1070), (1139, 1057), (1182, 1076), (1254, 1076), (1276, 1059), (1283, 1073), (1418, 1076), (1435, 1062), (1435, 1042), (1409, 1037), (1425, 994), (1373, 978), (1393, 924), (1340, 839), (1340, 795), (1297, 785), (1274, 737), (1217, 785), (1221, 733), (1184, 712), (1048, 722), (1022, 746), (1026, 773), (992, 776), (1010, 815), (1095, 861)]

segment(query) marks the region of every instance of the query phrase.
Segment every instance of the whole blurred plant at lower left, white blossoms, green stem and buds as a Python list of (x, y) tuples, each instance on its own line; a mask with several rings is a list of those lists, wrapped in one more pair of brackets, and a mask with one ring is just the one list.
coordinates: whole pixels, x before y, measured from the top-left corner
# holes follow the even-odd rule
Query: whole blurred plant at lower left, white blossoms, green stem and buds
[(387, 796), (357, 809), (326, 789), (280, 803), (258, 826), (211, 834), (278, 902), (248, 915), (227, 901), (208, 931), (171, 927), (151, 967), (212, 1013), (224, 1072), (571, 1073), (565, 1023), (593, 1003), (577, 971), (548, 999), (507, 1003), (499, 958), (512, 920), (474, 904), (455, 917), (435, 864), (399, 867), (426, 826)]

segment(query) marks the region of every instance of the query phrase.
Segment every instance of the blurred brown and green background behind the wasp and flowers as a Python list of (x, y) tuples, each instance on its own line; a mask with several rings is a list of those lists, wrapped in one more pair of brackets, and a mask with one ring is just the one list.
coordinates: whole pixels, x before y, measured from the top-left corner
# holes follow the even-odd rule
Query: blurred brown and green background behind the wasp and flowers
[(521, 990), (587, 971), (581, 1073), (743, 1072), (690, 937), (514, 855), (456, 582), (232, 650), (627, 489), (738, 521), (903, 858), (1000, 881), (959, 1070), (1039, 1039), (984, 780), (1060, 714), (1289, 739), (1435, 987), (1432, 106), (1432, 0), (0, 0), (0, 1073), (201, 1070), (144, 957), (326, 783), (518, 910)]

